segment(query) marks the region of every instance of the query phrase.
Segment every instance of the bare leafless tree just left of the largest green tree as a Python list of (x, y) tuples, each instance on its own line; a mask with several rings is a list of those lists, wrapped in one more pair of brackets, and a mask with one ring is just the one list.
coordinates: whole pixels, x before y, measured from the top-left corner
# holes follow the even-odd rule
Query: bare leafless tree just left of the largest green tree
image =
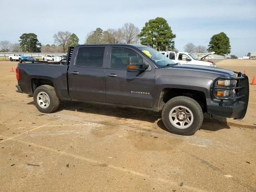
[(138, 43), (140, 30), (132, 23), (125, 23), (122, 26), (122, 40), (124, 43)]

